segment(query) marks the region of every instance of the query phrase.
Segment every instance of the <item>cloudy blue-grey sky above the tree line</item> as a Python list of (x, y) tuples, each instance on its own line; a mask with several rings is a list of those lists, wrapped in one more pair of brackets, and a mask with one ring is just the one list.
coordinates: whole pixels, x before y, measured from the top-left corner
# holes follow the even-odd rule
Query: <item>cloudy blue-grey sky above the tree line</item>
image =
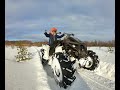
[(56, 27), (82, 41), (115, 39), (115, 0), (5, 0), (5, 40), (48, 40)]

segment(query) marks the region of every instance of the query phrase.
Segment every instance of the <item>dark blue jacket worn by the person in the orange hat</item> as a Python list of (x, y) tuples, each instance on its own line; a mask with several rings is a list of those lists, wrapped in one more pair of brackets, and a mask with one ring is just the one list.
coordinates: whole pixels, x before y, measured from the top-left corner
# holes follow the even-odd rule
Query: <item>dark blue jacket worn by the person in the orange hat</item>
[(52, 34), (48, 34), (47, 32), (44, 33), (46, 37), (49, 37), (49, 45), (52, 45), (54, 41), (57, 40), (57, 38), (62, 38), (64, 34), (62, 35), (55, 35), (53, 36)]

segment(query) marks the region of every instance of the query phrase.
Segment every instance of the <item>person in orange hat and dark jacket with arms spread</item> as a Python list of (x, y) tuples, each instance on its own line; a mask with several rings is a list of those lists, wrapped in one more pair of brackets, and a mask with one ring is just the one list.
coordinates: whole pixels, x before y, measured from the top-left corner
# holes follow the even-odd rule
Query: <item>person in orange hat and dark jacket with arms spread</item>
[(55, 43), (57, 43), (57, 38), (62, 38), (64, 34), (57, 35), (57, 28), (55, 27), (50, 29), (49, 34), (46, 31), (44, 34), (46, 37), (49, 37), (49, 45), (50, 45), (49, 55), (51, 55), (55, 51)]

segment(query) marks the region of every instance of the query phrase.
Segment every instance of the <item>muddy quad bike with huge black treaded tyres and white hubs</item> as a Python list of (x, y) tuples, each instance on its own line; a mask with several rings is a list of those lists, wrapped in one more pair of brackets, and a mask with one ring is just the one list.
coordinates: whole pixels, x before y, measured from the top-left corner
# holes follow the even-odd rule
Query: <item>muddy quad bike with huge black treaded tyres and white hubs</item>
[(87, 50), (87, 46), (75, 38), (74, 34), (65, 33), (64, 38), (53, 45), (52, 53), (49, 52), (49, 45), (43, 45), (40, 52), (43, 66), (46, 64), (51, 66), (54, 79), (60, 87), (66, 89), (74, 82), (78, 67), (87, 70), (95, 70), (98, 67), (96, 53)]

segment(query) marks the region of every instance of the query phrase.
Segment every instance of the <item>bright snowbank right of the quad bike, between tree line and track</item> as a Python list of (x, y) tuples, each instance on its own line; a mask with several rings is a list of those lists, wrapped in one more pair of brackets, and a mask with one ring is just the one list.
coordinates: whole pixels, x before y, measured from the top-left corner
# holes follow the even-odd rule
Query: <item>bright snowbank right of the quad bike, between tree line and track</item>
[(95, 73), (115, 81), (115, 48), (112, 47), (113, 52), (109, 52), (108, 47), (88, 47), (88, 49), (93, 50), (100, 60)]

